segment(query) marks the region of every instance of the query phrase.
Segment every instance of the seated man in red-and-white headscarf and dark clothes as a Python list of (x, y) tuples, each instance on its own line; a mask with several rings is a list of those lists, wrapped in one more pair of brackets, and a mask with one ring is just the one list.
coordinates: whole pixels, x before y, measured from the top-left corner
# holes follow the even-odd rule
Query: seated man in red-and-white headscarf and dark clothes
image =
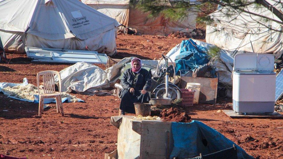
[(124, 71), (120, 84), (123, 87), (119, 93), (121, 115), (125, 115), (125, 112), (135, 114), (134, 103), (136, 102), (149, 102), (148, 90), (151, 87), (151, 76), (146, 69), (141, 68), (141, 59), (132, 59), (131, 68)]

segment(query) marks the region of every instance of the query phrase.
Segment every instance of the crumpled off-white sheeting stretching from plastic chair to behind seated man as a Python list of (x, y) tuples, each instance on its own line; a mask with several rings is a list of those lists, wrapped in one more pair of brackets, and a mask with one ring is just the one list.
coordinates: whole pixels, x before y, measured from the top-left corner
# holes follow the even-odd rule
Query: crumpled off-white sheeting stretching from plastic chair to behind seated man
[[(74, 90), (82, 94), (106, 94), (100, 91), (114, 87), (115, 82), (121, 76), (124, 63), (130, 63), (133, 58), (135, 57), (124, 58), (105, 71), (98, 66), (78, 62), (60, 71), (61, 89), (63, 92)], [(142, 67), (156, 68), (158, 62), (157, 60), (142, 60)], [(164, 66), (164, 63), (164, 61), (161, 62), (161, 67)], [(58, 80), (57, 76), (55, 80)]]

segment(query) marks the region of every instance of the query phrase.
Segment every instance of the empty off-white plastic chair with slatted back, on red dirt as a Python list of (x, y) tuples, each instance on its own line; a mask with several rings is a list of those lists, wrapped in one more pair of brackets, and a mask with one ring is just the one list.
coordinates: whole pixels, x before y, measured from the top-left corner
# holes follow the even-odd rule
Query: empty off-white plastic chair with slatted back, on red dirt
[[(55, 92), (55, 81), (54, 76), (58, 76), (59, 80), (59, 92)], [(40, 76), (43, 76), (43, 94), (39, 92), (39, 80)], [(56, 106), (57, 106), (57, 112), (60, 113), (62, 116), (64, 116), (63, 106), (62, 106), (62, 100), (61, 100), (61, 76), (60, 73), (57, 71), (42, 71), (37, 74), (37, 88), (38, 88), (38, 94), (39, 94), (39, 110), (38, 110), (38, 116), (41, 116), (43, 112), (43, 101), (44, 98), (56, 98)]]

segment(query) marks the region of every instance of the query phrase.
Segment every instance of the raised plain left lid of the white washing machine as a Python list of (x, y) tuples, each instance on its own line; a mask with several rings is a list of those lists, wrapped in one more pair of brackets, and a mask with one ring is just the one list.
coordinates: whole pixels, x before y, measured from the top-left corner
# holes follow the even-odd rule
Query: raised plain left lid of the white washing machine
[(237, 54), (234, 57), (234, 71), (256, 71), (257, 54)]

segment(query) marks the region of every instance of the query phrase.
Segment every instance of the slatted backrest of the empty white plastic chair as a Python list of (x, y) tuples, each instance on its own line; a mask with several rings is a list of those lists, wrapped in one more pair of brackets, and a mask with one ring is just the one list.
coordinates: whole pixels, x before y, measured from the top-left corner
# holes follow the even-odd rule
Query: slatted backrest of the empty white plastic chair
[[(61, 93), (61, 76), (57, 71), (42, 71), (37, 73), (37, 88), (39, 92), (39, 80), (40, 76), (43, 76), (43, 94), (54, 94), (55, 93), (55, 80), (54, 76), (58, 76), (59, 80), (59, 92)], [(40, 94), (40, 93), (39, 93)]]

